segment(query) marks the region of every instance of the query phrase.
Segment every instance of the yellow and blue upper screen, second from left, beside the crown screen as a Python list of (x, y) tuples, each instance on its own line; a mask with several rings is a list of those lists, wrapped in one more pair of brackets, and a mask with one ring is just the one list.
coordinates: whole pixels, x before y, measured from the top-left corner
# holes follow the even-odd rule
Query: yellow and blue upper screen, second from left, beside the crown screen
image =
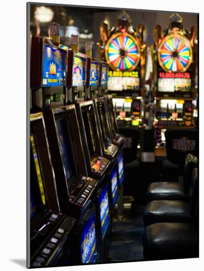
[(72, 69), (72, 86), (84, 86), (86, 81), (86, 60), (74, 56)]

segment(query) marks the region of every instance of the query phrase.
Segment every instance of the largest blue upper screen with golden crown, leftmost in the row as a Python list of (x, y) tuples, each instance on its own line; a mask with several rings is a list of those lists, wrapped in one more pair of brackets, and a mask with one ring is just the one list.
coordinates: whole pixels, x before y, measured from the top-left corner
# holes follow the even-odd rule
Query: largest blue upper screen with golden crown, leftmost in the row
[(66, 51), (44, 45), (42, 86), (64, 86), (66, 80)]

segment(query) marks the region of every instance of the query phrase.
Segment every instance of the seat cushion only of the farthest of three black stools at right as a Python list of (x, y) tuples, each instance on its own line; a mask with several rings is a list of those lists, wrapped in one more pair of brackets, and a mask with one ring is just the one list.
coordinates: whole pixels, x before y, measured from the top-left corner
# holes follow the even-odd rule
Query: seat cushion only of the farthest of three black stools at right
[(184, 185), (178, 182), (153, 182), (149, 185), (146, 203), (155, 200), (184, 200)]

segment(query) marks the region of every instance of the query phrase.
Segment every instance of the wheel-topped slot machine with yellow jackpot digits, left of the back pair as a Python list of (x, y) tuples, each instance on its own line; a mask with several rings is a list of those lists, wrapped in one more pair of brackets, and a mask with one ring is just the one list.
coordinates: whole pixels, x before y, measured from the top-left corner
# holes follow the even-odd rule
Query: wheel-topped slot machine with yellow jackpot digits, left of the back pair
[(99, 55), (109, 65), (107, 90), (117, 99), (118, 126), (142, 125), (147, 45), (144, 26), (135, 30), (131, 22), (123, 11), (111, 31), (104, 22), (100, 26)]

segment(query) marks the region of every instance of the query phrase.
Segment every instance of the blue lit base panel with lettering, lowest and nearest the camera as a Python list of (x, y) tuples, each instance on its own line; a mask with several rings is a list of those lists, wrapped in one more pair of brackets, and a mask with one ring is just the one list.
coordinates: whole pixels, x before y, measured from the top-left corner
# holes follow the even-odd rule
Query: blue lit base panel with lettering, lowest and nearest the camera
[(93, 242), (95, 241), (91, 253), (89, 255), (89, 258), (87, 259), (87, 263), (90, 262), (90, 259), (95, 251), (96, 248), (96, 229), (95, 229), (95, 222), (92, 223), (91, 228), (89, 229), (89, 232), (87, 233), (86, 237), (84, 238), (84, 241), (82, 243), (82, 262), (84, 263), (86, 261), (86, 257), (90, 251), (90, 248), (93, 245)]

